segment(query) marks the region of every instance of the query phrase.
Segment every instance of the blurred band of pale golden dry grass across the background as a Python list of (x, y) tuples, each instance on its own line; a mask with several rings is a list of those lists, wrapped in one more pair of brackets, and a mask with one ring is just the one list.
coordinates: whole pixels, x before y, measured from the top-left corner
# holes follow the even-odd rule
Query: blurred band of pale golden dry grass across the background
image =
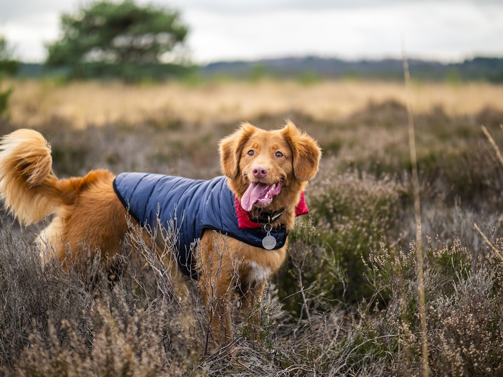
[[(14, 123), (40, 127), (64, 119), (77, 128), (126, 122), (146, 117), (183, 122), (249, 120), (263, 114), (300, 112), (318, 121), (347, 117), (389, 100), (405, 104), (401, 83), (339, 80), (305, 85), (297, 81), (227, 82), (197, 85), (170, 82), (131, 86), (118, 82), (23, 80), (14, 83), (10, 112)], [(503, 110), (503, 85), (469, 83), (412, 85), (416, 113), (442, 107), (447, 115), (473, 114), (484, 108)]]

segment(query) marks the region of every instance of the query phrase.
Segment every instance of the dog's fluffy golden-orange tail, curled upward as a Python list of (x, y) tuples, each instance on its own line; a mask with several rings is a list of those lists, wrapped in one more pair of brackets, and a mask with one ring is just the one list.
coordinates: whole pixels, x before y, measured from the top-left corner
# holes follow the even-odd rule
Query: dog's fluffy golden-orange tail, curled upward
[(0, 197), (23, 225), (40, 221), (69, 198), (61, 197), (51, 147), (37, 131), (20, 129), (0, 141)]

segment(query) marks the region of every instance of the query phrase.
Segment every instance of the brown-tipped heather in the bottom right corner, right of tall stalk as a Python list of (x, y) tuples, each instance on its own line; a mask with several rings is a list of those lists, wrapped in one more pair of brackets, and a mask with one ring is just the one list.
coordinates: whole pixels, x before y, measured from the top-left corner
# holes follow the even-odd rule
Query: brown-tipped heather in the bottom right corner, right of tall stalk
[(501, 282), (487, 267), (458, 277), (453, 293), (435, 301), (429, 346), (437, 375), (503, 373)]

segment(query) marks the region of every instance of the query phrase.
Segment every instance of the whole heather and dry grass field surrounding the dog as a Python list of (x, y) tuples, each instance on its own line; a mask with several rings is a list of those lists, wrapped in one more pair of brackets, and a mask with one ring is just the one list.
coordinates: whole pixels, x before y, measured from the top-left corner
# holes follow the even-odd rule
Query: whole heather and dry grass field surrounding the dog
[[(319, 141), (323, 158), (306, 192), (310, 215), (291, 233), (258, 319), (237, 326), (237, 360), (205, 354), (204, 320), (183, 330), (184, 299), (148, 263), (125, 258), (112, 290), (95, 263), (42, 269), (30, 244), (42, 225), (21, 229), (4, 214), (0, 374), (423, 375), (423, 331), (430, 375), (503, 374), (503, 165), (495, 150), (503, 147), (503, 86), (412, 83), (417, 242), (402, 83), (11, 84), (0, 134), (42, 131), (61, 177), (108, 168), (210, 178), (220, 174), (218, 140), (242, 121), (269, 129), (290, 119)], [(191, 313), (200, 312), (195, 296)]]

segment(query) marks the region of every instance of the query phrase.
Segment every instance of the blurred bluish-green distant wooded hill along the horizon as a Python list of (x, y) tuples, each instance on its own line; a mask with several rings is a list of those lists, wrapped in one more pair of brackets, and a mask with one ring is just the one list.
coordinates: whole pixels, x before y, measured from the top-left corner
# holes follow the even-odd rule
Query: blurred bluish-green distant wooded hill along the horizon
[[(488, 81), (503, 83), (503, 58), (476, 57), (460, 63), (409, 60), (413, 79), (429, 81)], [(285, 57), (256, 61), (221, 61), (195, 67), (204, 78), (231, 77), (258, 79), (266, 76), (300, 78), (315, 81), (321, 78), (374, 78), (402, 80), (400, 59), (342, 60), (336, 58)], [(43, 77), (64, 74), (63, 69), (47, 69), (41, 64), (22, 63), (18, 77)]]

